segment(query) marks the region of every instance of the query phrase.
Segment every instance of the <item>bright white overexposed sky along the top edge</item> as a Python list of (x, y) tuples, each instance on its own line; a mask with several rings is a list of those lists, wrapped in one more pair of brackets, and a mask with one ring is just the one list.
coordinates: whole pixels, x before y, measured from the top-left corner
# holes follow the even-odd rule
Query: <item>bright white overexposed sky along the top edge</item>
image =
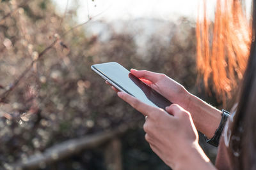
[[(65, 6), (74, 7), (75, 0), (53, 0), (60, 13), (64, 13)], [(195, 18), (198, 2), (201, 0), (76, 0), (77, 20), (83, 22), (90, 17), (99, 15), (104, 20), (129, 20), (133, 18), (159, 18), (175, 20), (179, 16)], [(209, 2), (209, 13), (213, 13), (215, 0)]]

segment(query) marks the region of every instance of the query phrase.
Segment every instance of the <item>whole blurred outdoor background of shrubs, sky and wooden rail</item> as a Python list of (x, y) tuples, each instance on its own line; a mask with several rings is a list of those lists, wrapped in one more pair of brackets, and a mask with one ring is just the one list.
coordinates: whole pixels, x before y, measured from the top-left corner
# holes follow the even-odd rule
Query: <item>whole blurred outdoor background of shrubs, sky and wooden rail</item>
[(196, 75), (198, 1), (0, 2), (0, 169), (170, 169), (92, 64), (164, 73), (221, 108)]

